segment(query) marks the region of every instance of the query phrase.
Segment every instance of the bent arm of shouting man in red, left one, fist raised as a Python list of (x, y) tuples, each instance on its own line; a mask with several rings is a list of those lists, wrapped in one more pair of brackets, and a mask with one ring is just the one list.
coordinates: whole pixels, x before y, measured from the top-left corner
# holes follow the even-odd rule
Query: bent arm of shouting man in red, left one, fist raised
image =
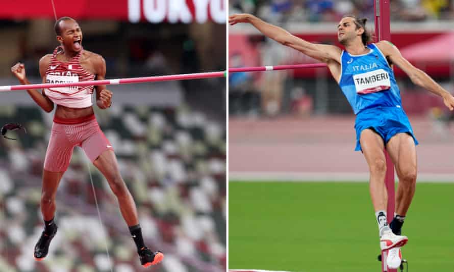
[[(49, 55), (42, 57), (39, 60), (39, 73), (41, 74), (42, 83), (46, 82), (46, 69), (49, 65)], [(30, 84), (29, 79), (26, 76), (25, 66), (18, 62), (13, 67), (11, 67), (11, 72), (17, 79), (19, 79), (20, 84), (26, 85)], [(54, 110), (54, 102), (44, 95), (44, 90), (40, 93), (35, 89), (27, 90), (32, 99), (37, 103), (45, 112), (50, 113)]]

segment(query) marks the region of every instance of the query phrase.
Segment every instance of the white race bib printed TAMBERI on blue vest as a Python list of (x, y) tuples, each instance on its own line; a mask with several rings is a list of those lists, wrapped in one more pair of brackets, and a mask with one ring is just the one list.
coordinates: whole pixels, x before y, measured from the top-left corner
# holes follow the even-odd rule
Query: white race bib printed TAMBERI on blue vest
[(356, 74), (353, 80), (358, 94), (376, 93), (391, 88), (389, 74), (383, 69)]

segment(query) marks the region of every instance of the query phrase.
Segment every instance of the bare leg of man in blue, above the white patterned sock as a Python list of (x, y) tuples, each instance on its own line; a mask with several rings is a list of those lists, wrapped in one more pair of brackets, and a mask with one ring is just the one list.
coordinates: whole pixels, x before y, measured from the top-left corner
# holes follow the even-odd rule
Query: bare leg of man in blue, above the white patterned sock
[(386, 210), (388, 194), (385, 186), (386, 158), (383, 139), (371, 129), (364, 129), (360, 137), (361, 149), (369, 165), (369, 189), (376, 211)]

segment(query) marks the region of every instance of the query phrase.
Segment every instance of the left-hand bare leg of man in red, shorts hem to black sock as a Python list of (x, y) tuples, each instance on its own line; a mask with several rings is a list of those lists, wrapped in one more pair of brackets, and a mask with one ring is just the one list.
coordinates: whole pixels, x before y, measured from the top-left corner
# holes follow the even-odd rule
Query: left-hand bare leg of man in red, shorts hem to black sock
[(42, 175), (41, 212), (44, 221), (49, 221), (54, 218), (56, 208), (55, 196), (63, 173), (64, 172), (49, 172), (44, 170)]

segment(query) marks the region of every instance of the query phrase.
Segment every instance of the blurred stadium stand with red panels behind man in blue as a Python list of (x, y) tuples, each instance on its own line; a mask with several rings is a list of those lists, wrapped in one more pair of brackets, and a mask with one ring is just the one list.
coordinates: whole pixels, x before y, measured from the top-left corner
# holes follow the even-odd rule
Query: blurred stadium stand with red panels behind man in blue
[[(251, 12), (292, 34), (314, 43), (340, 45), (336, 23), (343, 15), (367, 17), (373, 31), (373, 1), (231, 1), (229, 13)], [(391, 41), (418, 68), (454, 91), (454, 1), (391, 1)], [(410, 16), (409, 14), (419, 14)], [(436, 50), (434, 50), (436, 48)], [(229, 28), (231, 66), (315, 63), (294, 49), (264, 38), (248, 24)], [(395, 69), (404, 108), (409, 115), (428, 115), (440, 108), (440, 99), (414, 86)], [(350, 106), (326, 69), (299, 69), (272, 73), (249, 73), (230, 78), (231, 116), (307, 117), (313, 114), (351, 114)]]

